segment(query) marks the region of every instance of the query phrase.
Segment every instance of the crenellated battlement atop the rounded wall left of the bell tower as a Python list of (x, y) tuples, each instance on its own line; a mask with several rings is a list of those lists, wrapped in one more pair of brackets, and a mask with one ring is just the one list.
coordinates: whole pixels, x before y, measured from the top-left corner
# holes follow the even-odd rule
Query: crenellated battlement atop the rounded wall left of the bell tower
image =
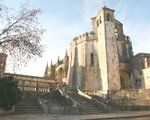
[(91, 41), (91, 40), (95, 40), (95, 39), (96, 39), (96, 36), (95, 36), (93, 31), (86, 32), (84, 34), (81, 34), (80, 36), (74, 37), (73, 42), (70, 45), (71, 46), (72, 45), (77, 45), (77, 44), (80, 44), (82, 42)]

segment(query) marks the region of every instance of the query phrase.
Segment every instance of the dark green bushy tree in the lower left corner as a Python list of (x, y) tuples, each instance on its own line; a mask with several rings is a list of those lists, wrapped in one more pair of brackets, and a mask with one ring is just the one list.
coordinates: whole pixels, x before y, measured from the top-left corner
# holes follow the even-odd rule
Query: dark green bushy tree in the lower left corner
[(9, 110), (21, 100), (22, 94), (17, 85), (12, 76), (0, 78), (0, 108)]

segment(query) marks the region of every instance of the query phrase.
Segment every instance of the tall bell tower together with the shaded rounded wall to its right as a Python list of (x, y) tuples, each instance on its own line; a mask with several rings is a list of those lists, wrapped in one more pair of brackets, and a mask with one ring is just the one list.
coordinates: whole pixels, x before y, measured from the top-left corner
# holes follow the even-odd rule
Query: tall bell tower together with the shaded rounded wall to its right
[(114, 10), (103, 7), (92, 19), (98, 39), (102, 90), (119, 90), (130, 86), (130, 59), (133, 55), (123, 25), (114, 18)]

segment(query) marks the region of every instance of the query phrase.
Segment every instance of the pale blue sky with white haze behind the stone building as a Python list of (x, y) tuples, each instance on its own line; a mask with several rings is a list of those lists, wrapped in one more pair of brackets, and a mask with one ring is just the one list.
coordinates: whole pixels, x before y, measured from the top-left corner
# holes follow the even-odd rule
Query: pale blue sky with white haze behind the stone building
[[(27, 0), (3, 0), (8, 7), (19, 8)], [(43, 34), (45, 52), (42, 58), (29, 61), (26, 67), (6, 72), (43, 76), (47, 62), (55, 63), (65, 56), (75, 36), (92, 30), (91, 18), (104, 5), (104, 0), (28, 0), (30, 8), (40, 8), (39, 22), (46, 28)], [(150, 0), (105, 0), (105, 6), (115, 10), (115, 18), (123, 23), (124, 34), (130, 36), (134, 54), (150, 53)]]

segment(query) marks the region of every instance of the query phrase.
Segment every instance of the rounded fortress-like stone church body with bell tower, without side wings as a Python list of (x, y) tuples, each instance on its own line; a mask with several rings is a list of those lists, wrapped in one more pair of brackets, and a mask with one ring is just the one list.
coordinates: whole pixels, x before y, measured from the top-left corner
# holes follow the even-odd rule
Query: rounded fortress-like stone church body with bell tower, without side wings
[(131, 86), (132, 45), (114, 12), (103, 7), (92, 18), (93, 30), (70, 44), (67, 79), (71, 89), (107, 93)]

